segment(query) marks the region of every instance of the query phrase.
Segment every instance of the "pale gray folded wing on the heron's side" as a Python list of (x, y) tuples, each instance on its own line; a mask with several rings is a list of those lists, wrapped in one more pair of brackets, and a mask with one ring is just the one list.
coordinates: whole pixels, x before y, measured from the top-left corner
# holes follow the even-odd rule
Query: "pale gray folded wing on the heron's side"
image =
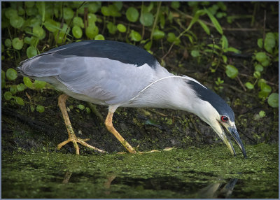
[(50, 53), (27, 59), (19, 69), (25, 76), (45, 78), (47, 82), (52, 77), (71, 92), (119, 104), (129, 101), (157, 80), (156, 71), (163, 68), (124, 64), (104, 57), (64, 57)]

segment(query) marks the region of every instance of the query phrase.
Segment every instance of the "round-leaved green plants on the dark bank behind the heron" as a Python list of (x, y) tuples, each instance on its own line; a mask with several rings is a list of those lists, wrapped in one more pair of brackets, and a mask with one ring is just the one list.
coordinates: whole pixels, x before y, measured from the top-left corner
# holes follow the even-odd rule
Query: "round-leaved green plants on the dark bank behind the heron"
[[(269, 22), (278, 16), (278, 7), (273, 3), (252, 2), (248, 3), (253, 8), (251, 13), (236, 15), (229, 5), (235, 4), (221, 1), (3, 2), (3, 107), (25, 109), (28, 106), (31, 113), (53, 109), (55, 104), (41, 98), (50, 85), (22, 78), (16, 67), (22, 60), (59, 45), (107, 39), (141, 46), (170, 71), (187, 73), (219, 94), (231, 89), (253, 98), (249, 106), (244, 101), (242, 106), (258, 105), (260, 110), (255, 119), (272, 116), (274, 127), (278, 127), (278, 22)], [(257, 33), (249, 41), (253, 48), (244, 48), (242, 43), (246, 41), (232, 36), (235, 34), (231, 31), (238, 34), (246, 31), (240, 27), (240, 20), (250, 22), (248, 31)], [(236, 24), (240, 28), (230, 28)], [(203, 71), (203, 76), (197, 75), (197, 71)], [(230, 103), (238, 106), (237, 100)], [(69, 109), (89, 115), (90, 106), (81, 103), (70, 105)], [(271, 133), (267, 137), (270, 136)]]

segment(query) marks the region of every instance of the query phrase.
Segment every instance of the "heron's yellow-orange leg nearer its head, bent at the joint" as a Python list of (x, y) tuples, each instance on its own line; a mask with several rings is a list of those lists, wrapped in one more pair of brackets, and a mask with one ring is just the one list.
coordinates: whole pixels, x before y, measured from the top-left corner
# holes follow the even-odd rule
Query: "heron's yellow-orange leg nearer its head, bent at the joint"
[(111, 112), (109, 110), (109, 113), (106, 117), (105, 120), (105, 125), (107, 127), (107, 129), (118, 139), (118, 141), (120, 141), (120, 143), (123, 144), (123, 146), (130, 152), (130, 153), (136, 153), (136, 150), (134, 150), (134, 148), (132, 148), (132, 146), (127, 143), (127, 141), (125, 141), (125, 139), (118, 133), (118, 131), (113, 127), (113, 112)]

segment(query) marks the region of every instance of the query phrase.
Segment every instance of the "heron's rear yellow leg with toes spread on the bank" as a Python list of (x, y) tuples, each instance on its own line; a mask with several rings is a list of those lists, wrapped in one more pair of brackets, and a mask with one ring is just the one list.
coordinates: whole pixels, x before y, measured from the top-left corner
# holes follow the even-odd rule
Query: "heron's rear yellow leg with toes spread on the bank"
[(62, 94), (58, 97), (58, 106), (62, 112), (62, 116), (66, 125), (66, 129), (68, 131), (68, 136), (69, 138), (62, 142), (59, 143), (59, 145), (57, 145), (57, 150), (60, 150), (62, 148), (62, 146), (66, 145), (66, 143), (72, 142), (74, 145), (74, 148), (76, 149), (76, 154), (79, 155), (80, 154), (80, 149), (78, 147), (78, 143), (80, 143), (81, 145), (86, 146), (87, 148), (91, 148), (93, 150), (97, 150), (99, 152), (105, 152), (104, 150), (99, 150), (99, 148), (94, 148), (92, 145), (89, 145), (86, 143), (86, 141), (90, 140), (90, 139), (81, 139), (78, 138), (72, 128), (71, 122), (69, 120), (69, 115), (67, 113), (66, 110), (66, 99), (68, 98), (67, 94)]

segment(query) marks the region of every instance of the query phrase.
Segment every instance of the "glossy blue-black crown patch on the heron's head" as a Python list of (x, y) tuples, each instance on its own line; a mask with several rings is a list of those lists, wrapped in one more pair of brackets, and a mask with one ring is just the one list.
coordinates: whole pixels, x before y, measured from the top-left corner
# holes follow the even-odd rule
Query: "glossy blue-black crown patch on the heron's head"
[(220, 115), (226, 115), (230, 118), (230, 121), (235, 121), (235, 113), (233, 113), (232, 108), (228, 106), (228, 103), (225, 102), (218, 94), (210, 90), (209, 88), (205, 88), (202, 85), (195, 83), (192, 80), (188, 80), (188, 85), (191, 85), (193, 90), (197, 93), (198, 97), (204, 101), (208, 101)]

